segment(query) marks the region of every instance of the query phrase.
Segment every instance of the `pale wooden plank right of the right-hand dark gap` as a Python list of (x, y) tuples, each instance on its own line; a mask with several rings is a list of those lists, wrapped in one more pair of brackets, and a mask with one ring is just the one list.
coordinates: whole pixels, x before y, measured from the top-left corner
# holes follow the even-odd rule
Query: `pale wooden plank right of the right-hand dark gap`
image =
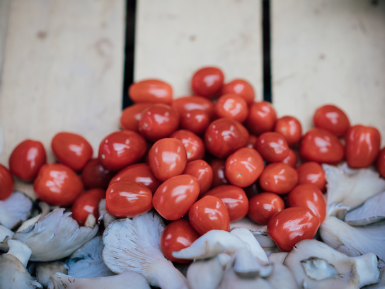
[(277, 113), (304, 130), (334, 103), (385, 145), (385, 2), (272, 0), (272, 89)]

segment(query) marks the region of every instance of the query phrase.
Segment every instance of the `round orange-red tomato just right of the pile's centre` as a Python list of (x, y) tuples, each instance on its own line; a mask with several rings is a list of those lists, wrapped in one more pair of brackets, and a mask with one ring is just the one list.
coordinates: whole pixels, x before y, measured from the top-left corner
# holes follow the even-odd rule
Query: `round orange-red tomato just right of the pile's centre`
[(231, 184), (243, 188), (257, 181), (264, 166), (255, 149), (242, 147), (226, 159), (224, 174)]

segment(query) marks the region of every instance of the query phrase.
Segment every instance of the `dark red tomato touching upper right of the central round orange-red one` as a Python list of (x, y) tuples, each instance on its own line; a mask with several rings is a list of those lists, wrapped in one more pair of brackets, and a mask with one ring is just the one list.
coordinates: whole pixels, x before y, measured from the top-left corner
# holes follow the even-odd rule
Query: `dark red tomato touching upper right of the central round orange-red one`
[(255, 149), (266, 162), (282, 162), (289, 155), (289, 146), (280, 132), (265, 132), (255, 142)]

